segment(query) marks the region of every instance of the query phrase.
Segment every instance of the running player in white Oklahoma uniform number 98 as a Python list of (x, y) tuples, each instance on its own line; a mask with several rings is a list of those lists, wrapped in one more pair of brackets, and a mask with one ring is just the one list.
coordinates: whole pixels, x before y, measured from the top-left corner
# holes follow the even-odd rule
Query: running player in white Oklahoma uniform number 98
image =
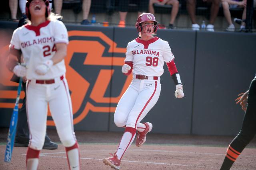
[(163, 74), (164, 62), (176, 84), (176, 98), (183, 98), (180, 75), (174, 63), (174, 55), (167, 41), (153, 37), (158, 28), (153, 14), (143, 13), (136, 22), (140, 37), (127, 45), (125, 64), (122, 72), (129, 75), (133, 70), (133, 79), (118, 102), (114, 122), (118, 127), (125, 127), (124, 135), (113, 157), (103, 158), (103, 162), (114, 169), (120, 169), (121, 159), (135, 138), (136, 146), (146, 141), (146, 134), (151, 131), (152, 123), (140, 123), (150, 109), (156, 104), (160, 91), (160, 76)]

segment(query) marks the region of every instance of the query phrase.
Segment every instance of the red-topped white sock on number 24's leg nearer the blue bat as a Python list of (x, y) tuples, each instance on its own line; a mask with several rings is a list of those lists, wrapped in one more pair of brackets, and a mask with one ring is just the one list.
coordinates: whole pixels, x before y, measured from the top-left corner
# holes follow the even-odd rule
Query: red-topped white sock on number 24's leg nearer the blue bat
[(37, 170), (40, 150), (28, 147), (26, 155), (26, 170)]

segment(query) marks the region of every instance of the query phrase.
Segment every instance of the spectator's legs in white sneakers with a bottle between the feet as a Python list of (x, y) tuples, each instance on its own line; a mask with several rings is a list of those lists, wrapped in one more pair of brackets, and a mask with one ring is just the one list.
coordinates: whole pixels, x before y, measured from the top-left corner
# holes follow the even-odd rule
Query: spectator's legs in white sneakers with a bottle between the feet
[[(212, 2), (209, 24), (206, 26), (207, 31), (214, 31), (214, 21), (218, 15), (220, 8), (220, 0), (203, 0), (204, 2)], [(200, 26), (196, 23), (196, 0), (187, 0), (187, 10), (192, 21), (192, 29), (199, 30)]]

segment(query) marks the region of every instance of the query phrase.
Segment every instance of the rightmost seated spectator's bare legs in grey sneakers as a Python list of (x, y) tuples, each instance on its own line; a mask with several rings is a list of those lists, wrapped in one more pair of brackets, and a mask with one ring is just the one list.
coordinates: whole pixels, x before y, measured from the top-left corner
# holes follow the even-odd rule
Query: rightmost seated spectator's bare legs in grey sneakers
[[(242, 14), (242, 20), (246, 18), (246, 0), (243, 1), (237, 1), (237, 0), (222, 0), (222, 8), (224, 16), (228, 22), (228, 27), (226, 31), (235, 31), (235, 26), (232, 23), (231, 20), (231, 14), (229, 11), (229, 8), (244, 8), (243, 14)], [(245, 22), (241, 23), (240, 30), (245, 27)]]

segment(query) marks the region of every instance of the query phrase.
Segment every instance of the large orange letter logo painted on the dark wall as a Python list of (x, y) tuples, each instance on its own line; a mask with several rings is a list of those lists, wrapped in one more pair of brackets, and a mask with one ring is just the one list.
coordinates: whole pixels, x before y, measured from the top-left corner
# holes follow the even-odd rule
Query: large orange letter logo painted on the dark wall
[[(117, 47), (114, 41), (99, 31), (74, 30), (68, 31), (68, 35), (68, 53), (65, 58), (66, 78), (72, 100), (74, 124), (82, 121), (89, 112), (114, 112), (116, 104), (132, 80), (132, 75), (124, 77), (124, 80), (118, 79), (121, 74), (121, 66), (124, 64), (123, 56), (126, 53), (126, 48)], [(6, 56), (7, 53), (8, 45), (1, 49), (0, 55)], [(1, 61), (3, 61), (3, 57), (1, 57)], [(3, 79), (0, 84), (2, 86), (0, 88), (0, 108), (12, 109), (18, 84), (10, 82), (12, 73), (2, 64), (0, 73), (0, 78)], [(2, 75), (3, 73), (4, 75)], [(119, 90), (112, 86), (115, 81), (120, 81), (119, 83), (122, 84)], [(23, 97), (24, 92), (21, 92), (21, 98)], [(48, 112), (48, 116), (50, 116), (50, 112)], [(54, 125), (51, 117), (48, 117), (47, 125)]]

